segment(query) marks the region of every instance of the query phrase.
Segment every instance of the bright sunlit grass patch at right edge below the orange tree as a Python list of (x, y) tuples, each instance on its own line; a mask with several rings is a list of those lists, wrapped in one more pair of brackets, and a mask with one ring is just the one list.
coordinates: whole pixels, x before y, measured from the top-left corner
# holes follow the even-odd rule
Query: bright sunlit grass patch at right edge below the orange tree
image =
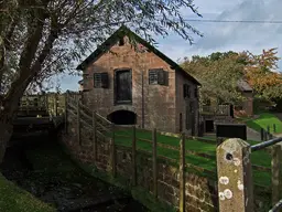
[(282, 132), (282, 121), (273, 114), (270, 113), (263, 113), (259, 115), (259, 118), (257, 119), (250, 119), (246, 120), (246, 124), (248, 127), (260, 131), (261, 128), (268, 129), (268, 126), (270, 126), (270, 132), (273, 131), (273, 125), (275, 124), (276, 126), (276, 132), (281, 134)]

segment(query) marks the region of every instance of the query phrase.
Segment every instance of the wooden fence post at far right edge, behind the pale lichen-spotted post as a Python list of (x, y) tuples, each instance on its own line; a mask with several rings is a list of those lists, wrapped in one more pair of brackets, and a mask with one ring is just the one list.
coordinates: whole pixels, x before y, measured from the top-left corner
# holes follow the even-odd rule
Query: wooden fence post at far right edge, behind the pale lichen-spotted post
[(281, 144), (272, 147), (271, 160), (272, 205), (282, 199), (282, 148)]

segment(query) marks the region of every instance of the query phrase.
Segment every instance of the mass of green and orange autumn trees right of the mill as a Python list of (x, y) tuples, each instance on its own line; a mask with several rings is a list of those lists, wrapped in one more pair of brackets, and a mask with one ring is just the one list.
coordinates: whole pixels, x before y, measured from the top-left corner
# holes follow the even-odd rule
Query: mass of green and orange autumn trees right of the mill
[(200, 83), (203, 104), (207, 99), (237, 104), (243, 100), (238, 91), (239, 80), (248, 82), (256, 97), (275, 102), (282, 98), (282, 74), (278, 71), (276, 49), (254, 55), (246, 52), (216, 52), (208, 56), (184, 59), (182, 66)]

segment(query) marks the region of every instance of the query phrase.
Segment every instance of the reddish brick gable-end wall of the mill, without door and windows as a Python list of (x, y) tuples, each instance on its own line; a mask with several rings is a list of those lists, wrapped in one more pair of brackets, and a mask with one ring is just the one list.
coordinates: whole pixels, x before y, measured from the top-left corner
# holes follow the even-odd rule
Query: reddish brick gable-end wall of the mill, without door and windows
[[(113, 45), (110, 52), (101, 55), (85, 71), (85, 73), (88, 74), (88, 78), (84, 78), (84, 88), (89, 89), (89, 92), (84, 93), (85, 104), (91, 106), (91, 108), (96, 109), (102, 116), (108, 116), (110, 113), (119, 109), (134, 112), (138, 116), (137, 124), (141, 126), (141, 73), (144, 72), (144, 127), (156, 127), (163, 131), (177, 132), (178, 114), (183, 113), (183, 117), (185, 117), (185, 112), (183, 110), (183, 100), (178, 99), (178, 106), (176, 105), (175, 94), (181, 95), (182, 88), (176, 93), (175, 71), (152, 52), (137, 53), (128, 42), (128, 39), (124, 38), (124, 45)], [(113, 105), (113, 71), (116, 68), (132, 70), (132, 105)], [(167, 71), (169, 86), (149, 85), (148, 76), (150, 68), (164, 68)], [(109, 88), (94, 88), (94, 72), (109, 73)], [(182, 81), (181, 75), (177, 75), (177, 81)], [(183, 95), (181, 95), (181, 97)]]

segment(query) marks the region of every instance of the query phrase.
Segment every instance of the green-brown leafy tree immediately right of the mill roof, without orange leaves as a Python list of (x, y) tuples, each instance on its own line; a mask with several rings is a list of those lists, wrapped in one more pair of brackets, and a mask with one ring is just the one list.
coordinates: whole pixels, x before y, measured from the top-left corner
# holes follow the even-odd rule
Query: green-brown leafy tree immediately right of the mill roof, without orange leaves
[(182, 66), (200, 83), (200, 100), (203, 104), (236, 104), (243, 99), (237, 89), (238, 80), (243, 75), (241, 55), (235, 52), (216, 52), (208, 56), (186, 59)]

